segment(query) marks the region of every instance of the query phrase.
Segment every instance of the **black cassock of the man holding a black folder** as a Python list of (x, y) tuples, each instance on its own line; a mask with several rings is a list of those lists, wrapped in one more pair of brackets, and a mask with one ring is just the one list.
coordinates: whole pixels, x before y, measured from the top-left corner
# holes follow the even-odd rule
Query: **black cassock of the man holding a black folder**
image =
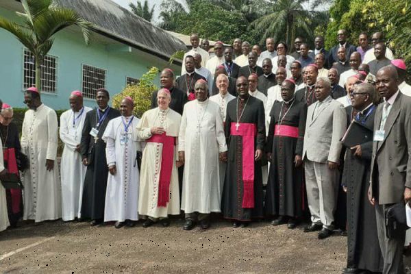
[[(346, 108), (351, 117), (351, 105)], [(365, 110), (357, 121), (374, 128), (375, 107)], [(359, 118), (359, 120), (358, 120)], [(351, 149), (345, 151), (343, 185), (347, 186), (347, 267), (382, 272), (383, 260), (379, 249), (375, 208), (368, 199), (370, 164), (373, 142), (361, 145), (362, 157), (353, 155)]]

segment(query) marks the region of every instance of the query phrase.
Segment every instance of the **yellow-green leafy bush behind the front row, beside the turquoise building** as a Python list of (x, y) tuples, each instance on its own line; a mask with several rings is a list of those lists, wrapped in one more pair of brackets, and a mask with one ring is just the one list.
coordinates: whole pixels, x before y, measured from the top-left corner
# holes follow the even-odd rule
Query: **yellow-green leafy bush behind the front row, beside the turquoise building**
[(112, 99), (113, 108), (120, 108), (121, 100), (126, 97), (132, 97), (134, 100), (134, 115), (141, 117), (144, 112), (151, 108), (151, 95), (157, 86), (153, 83), (155, 77), (160, 71), (155, 67), (142, 75), (140, 82), (136, 85), (126, 86), (119, 94), (114, 95)]

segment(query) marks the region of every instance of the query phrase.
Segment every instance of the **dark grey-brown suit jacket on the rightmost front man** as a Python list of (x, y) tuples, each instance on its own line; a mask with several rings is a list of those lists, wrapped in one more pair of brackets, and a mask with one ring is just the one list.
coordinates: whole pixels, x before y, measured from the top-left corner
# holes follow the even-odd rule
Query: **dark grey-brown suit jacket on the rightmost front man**
[[(379, 129), (384, 103), (375, 113), (374, 132)], [(373, 142), (369, 193), (379, 205), (403, 201), (404, 188), (411, 188), (411, 97), (398, 93), (384, 125), (384, 140)]]

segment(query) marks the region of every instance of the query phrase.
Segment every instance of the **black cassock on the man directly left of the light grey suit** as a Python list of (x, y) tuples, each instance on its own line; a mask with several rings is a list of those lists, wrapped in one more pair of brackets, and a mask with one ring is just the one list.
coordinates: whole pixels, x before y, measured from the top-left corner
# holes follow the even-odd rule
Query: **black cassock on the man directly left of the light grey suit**
[[(275, 101), (271, 108), (271, 121), (266, 151), (272, 153), (272, 160), (264, 203), (267, 216), (301, 217), (303, 215), (303, 167), (295, 167), (295, 155), (303, 153), (306, 129), (306, 104), (292, 99), (289, 103)], [(298, 138), (277, 135), (275, 125), (297, 127)]]

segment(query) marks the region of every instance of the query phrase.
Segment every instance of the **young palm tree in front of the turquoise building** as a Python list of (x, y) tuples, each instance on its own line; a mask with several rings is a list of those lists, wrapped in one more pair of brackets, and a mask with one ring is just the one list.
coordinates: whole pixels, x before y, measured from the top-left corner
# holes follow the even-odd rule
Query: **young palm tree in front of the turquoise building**
[(24, 12), (23, 25), (0, 17), (0, 28), (11, 32), (34, 55), (36, 62), (36, 88), (41, 90), (41, 64), (53, 46), (53, 35), (60, 30), (77, 25), (88, 44), (92, 23), (80, 18), (73, 10), (52, 5), (53, 0), (21, 0)]

